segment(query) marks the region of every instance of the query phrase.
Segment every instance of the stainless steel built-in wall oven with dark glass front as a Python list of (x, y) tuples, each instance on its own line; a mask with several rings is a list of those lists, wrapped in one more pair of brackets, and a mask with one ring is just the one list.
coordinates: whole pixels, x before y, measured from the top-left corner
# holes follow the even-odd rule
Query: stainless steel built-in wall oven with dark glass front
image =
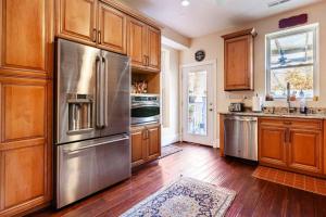
[(160, 122), (158, 94), (131, 94), (131, 125)]

